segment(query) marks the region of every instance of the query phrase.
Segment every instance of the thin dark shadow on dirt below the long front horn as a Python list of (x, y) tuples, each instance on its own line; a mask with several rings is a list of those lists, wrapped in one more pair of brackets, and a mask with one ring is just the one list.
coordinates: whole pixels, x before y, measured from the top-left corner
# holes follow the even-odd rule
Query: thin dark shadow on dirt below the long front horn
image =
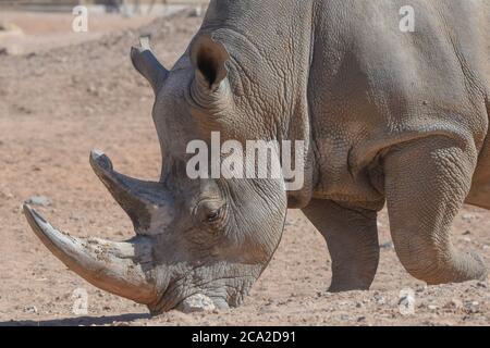
[(150, 319), (149, 313), (133, 313), (111, 316), (76, 316), (53, 320), (11, 320), (0, 322), (0, 326), (89, 326), (89, 325), (110, 325), (118, 323), (133, 322), (139, 319)]

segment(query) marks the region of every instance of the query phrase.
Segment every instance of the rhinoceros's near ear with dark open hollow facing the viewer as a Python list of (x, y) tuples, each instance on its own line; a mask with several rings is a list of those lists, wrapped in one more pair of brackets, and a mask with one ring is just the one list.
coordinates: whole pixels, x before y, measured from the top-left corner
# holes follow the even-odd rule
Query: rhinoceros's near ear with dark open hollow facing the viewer
[(216, 90), (228, 76), (230, 54), (221, 42), (208, 35), (197, 37), (191, 46), (191, 61), (196, 78), (210, 90)]

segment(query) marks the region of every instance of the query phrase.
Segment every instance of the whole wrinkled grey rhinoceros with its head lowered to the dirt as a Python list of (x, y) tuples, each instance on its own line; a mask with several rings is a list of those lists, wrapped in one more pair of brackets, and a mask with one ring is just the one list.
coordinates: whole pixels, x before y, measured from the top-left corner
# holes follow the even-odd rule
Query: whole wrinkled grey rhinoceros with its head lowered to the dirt
[[(34, 231), (88, 282), (152, 313), (196, 294), (240, 304), (278, 247), (287, 207), (326, 237), (332, 291), (369, 288), (384, 202), (413, 276), (485, 277), (478, 256), (453, 248), (450, 228), (465, 201), (490, 209), (490, 3), (413, 0), (416, 30), (402, 33), (405, 2), (211, 1), (171, 71), (143, 41), (132, 58), (157, 96), (161, 179), (138, 182), (90, 157), (137, 236), (73, 238), (26, 206)], [(305, 140), (304, 188), (187, 178), (186, 145), (211, 130), (223, 141)]]

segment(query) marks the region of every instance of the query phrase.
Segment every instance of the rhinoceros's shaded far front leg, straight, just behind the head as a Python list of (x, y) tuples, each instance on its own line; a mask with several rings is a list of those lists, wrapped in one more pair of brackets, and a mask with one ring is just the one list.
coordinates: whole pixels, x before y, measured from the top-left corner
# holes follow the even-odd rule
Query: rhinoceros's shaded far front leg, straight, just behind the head
[(368, 289), (379, 261), (377, 214), (313, 200), (305, 215), (323, 235), (332, 259), (329, 291)]

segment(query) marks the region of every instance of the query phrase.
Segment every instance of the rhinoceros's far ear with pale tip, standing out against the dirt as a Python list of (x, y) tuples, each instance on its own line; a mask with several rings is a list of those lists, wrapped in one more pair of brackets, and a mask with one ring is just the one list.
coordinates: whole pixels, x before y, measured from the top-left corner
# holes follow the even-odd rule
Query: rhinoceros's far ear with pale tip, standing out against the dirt
[(149, 45), (149, 36), (139, 38), (139, 47), (131, 48), (131, 60), (134, 67), (150, 83), (155, 94), (169, 75), (169, 71), (160, 64)]

